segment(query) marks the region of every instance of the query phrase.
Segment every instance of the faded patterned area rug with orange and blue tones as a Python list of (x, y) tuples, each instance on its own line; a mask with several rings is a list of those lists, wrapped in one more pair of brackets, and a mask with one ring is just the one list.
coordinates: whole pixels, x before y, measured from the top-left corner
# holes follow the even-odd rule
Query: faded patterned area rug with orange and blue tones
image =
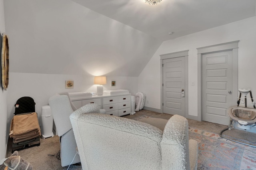
[(198, 141), (198, 170), (255, 170), (256, 148), (189, 127), (189, 138)]

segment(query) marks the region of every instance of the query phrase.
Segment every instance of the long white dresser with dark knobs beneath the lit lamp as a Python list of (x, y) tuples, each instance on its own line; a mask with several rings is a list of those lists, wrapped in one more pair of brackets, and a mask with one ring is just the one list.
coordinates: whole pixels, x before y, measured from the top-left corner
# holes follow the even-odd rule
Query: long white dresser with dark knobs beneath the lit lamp
[(123, 116), (131, 113), (131, 94), (101, 95), (88, 98), (74, 99), (72, 103), (80, 108), (89, 103), (98, 104), (100, 109), (106, 109), (106, 114)]

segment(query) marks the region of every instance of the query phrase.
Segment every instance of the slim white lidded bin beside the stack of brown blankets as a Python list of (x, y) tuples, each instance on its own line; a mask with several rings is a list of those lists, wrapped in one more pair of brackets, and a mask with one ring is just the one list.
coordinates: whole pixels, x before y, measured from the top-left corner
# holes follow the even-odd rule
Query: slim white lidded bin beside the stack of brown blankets
[(42, 125), (42, 138), (54, 137), (52, 132), (53, 127), (53, 117), (50, 106), (42, 106), (41, 115), (41, 125)]

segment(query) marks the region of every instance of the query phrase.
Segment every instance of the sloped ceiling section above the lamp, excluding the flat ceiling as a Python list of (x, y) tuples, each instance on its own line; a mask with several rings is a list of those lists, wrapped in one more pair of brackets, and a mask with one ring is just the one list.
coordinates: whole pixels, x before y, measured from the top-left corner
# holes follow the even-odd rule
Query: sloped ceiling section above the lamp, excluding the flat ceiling
[(138, 76), (161, 41), (70, 0), (4, 1), (10, 72)]

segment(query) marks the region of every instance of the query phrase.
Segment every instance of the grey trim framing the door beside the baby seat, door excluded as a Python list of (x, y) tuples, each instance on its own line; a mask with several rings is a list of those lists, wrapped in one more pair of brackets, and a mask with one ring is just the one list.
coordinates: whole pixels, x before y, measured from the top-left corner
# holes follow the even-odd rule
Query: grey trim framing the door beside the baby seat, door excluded
[[(221, 51), (232, 51), (232, 103), (238, 95), (238, 41), (197, 48), (198, 58), (198, 121), (202, 121), (202, 55)], [(236, 94), (237, 93), (237, 94)], [(236, 94), (236, 95), (235, 95)]]

